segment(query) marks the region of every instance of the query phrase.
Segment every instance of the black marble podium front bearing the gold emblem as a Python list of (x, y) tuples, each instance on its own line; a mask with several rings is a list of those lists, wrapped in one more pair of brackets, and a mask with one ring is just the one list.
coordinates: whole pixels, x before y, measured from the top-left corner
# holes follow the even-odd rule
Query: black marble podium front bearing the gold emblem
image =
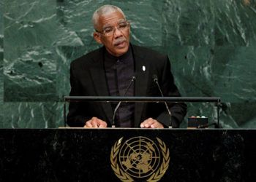
[(158, 166), (159, 181), (255, 181), (255, 138), (256, 130), (1, 129), (0, 181), (120, 181), (118, 159), (117, 171), (133, 179)]

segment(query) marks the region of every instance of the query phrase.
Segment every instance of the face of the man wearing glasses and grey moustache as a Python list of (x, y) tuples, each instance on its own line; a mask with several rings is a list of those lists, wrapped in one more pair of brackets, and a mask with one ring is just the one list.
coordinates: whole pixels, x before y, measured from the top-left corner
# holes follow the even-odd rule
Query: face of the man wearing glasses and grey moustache
[(114, 28), (113, 33), (99, 33), (94, 32), (94, 39), (99, 44), (104, 44), (108, 52), (114, 56), (124, 55), (129, 48), (129, 25), (127, 28), (119, 28), (122, 23), (126, 23), (124, 16), (121, 12), (112, 12), (108, 15), (100, 16), (97, 25), (97, 31), (104, 32)]

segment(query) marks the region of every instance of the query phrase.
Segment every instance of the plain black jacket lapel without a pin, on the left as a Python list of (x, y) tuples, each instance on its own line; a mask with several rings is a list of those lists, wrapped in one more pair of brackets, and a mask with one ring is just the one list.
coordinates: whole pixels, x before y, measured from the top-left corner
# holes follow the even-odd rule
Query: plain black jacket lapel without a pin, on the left
[[(104, 69), (104, 48), (99, 49), (99, 54), (97, 58), (94, 58), (94, 63), (90, 68), (91, 80), (94, 84), (96, 90), (96, 96), (109, 96), (108, 84), (105, 75)], [(102, 109), (105, 112), (105, 115), (108, 117), (108, 120), (111, 122), (113, 116), (113, 109), (111, 103), (102, 102)]]

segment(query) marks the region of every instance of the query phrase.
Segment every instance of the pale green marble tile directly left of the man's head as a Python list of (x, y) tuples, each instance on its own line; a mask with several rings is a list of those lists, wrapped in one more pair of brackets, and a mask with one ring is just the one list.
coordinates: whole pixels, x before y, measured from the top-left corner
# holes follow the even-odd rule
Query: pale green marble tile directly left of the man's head
[(61, 28), (57, 44), (69, 47), (86, 46), (89, 50), (99, 47), (92, 37), (94, 28), (91, 16), (102, 2), (106, 1), (57, 0), (56, 16)]

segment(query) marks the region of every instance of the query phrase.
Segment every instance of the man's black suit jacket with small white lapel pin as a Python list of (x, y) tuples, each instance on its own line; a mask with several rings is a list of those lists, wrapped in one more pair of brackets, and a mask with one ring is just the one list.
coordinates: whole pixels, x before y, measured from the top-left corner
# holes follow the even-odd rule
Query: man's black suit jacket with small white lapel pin
[[(70, 96), (109, 96), (108, 84), (104, 70), (103, 56), (105, 47), (89, 52), (70, 66)], [(161, 55), (153, 50), (132, 45), (135, 60), (135, 96), (161, 96), (157, 84), (152, 79), (156, 74), (163, 95), (178, 97), (180, 93), (173, 82), (170, 72), (170, 61), (167, 55)], [(143, 71), (143, 66), (146, 68)], [(185, 103), (169, 104), (172, 113), (173, 127), (178, 127), (187, 114)], [(110, 103), (69, 103), (67, 124), (70, 127), (83, 127), (92, 116), (97, 116), (111, 126), (113, 108)], [(135, 103), (134, 127), (140, 127), (140, 122), (152, 117), (166, 126), (169, 116), (164, 103)]]

